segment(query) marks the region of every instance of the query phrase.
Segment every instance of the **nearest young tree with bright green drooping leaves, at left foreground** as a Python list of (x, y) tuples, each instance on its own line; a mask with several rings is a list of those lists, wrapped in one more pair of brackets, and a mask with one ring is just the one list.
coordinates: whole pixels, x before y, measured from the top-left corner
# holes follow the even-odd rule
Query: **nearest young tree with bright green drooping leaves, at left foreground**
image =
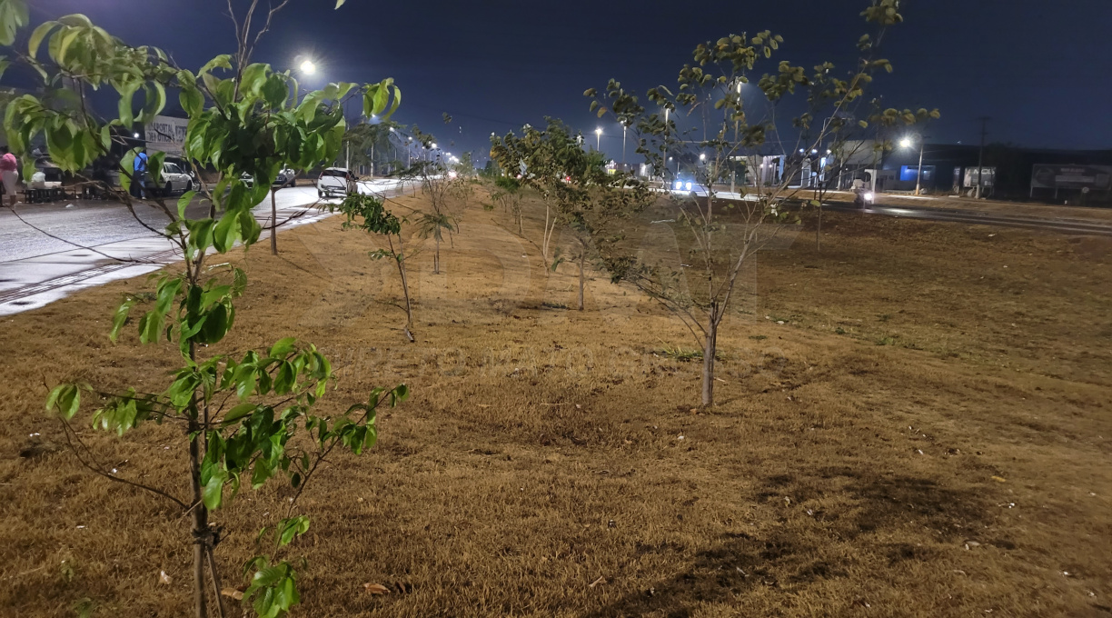
[[(373, 446), (376, 410), (408, 393), (404, 386), (389, 391), (375, 389), (366, 403), (342, 415), (319, 416), (314, 407), (334, 376), (328, 360), (314, 346), (284, 338), (235, 357), (212, 353), (235, 323), (235, 301), (246, 289), (247, 276), (227, 265), (210, 266), (207, 258), (258, 240), (261, 228), (251, 209), (265, 199), (282, 161), (311, 167), (336, 156), (344, 134), (344, 100), (361, 97), (367, 113), (381, 113), (388, 107), (393, 110), (399, 96), (390, 80), (361, 87), (334, 83), (309, 92), (297, 104), (290, 103), (294, 81), (289, 73), (249, 61), (258, 37), (285, 4), (271, 9), (258, 30), (237, 22), (236, 56), (219, 56), (197, 73), (177, 67), (159, 49), (127, 46), (85, 16), (48, 21), (30, 34), (27, 52), (16, 52), (17, 57), (39, 73), (48, 88), (69, 84), (77, 104), (51, 107), (44, 99), (26, 94), (13, 100), (4, 116), (11, 148), (23, 158), (27, 169), (31, 162), (29, 144), (44, 136), (52, 160), (64, 171), (80, 173), (108, 153), (113, 128), (130, 130), (133, 122), (151, 119), (165, 106), (167, 91), (178, 90), (189, 117), (185, 157), (195, 169), (211, 166), (220, 172), (215, 187), (200, 188), (202, 203), (209, 205), (209, 216), (201, 218), (189, 213), (197, 195), (193, 191), (176, 205), (163, 196), (145, 202), (133, 200), (128, 195), (133, 153), (120, 162), (123, 190), (102, 186), (133, 215), (137, 207), (162, 213), (165, 227), (148, 229), (172, 242), (183, 259), (179, 269), (158, 277), (152, 301), (127, 299), (116, 311), (110, 332), (116, 341), (130, 322), (132, 310), (141, 308), (142, 316), (135, 323), (139, 341), (155, 345), (165, 339), (182, 357), (183, 366), (172, 373), (167, 388), (107, 391), (69, 382), (51, 390), (47, 400), (47, 409), (57, 412), (66, 440), (81, 464), (115, 482), (172, 502), (180, 509), (178, 520), (189, 516), (198, 618), (207, 617), (210, 608), (226, 616), (215, 554), (220, 530), (210, 525), (210, 511), (229, 507), (244, 485), (258, 489), (268, 480), (285, 478), (296, 489), (285, 518), (274, 529), (276, 552), (249, 562), (250, 586), (245, 594), (258, 615), (285, 615), (298, 602), (297, 576), (290, 562), (280, 559), (280, 552), (288, 551), (287, 546), (309, 527), (308, 518), (298, 511), (297, 498), (337, 447), (359, 453)], [(250, 23), (252, 13), (254, 4), (242, 23)], [(26, 23), (22, 2), (0, 0), (0, 42), (12, 42)], [(40, 59), (43, 43), (48, 58)], [(87, 90), (106, 87), (120, 96), (118, 111), (109, 118), (98, 114), (87, 98)], [(139, 92), (142, 104), (136, 114), (133, 99)], [(149, 169), (158, 182), (161, 154), (151, 156)], [(245, 183), (244, 175), (255, 182)], [(122, 436), (151, 421), (179, 427), (188, 452), (188, 469), (182, 472), (189, 494), (181, 496), (176, 489), (126, 479), (101, 467), (71, 425), (83, 408), (82, 399), (92, 400), (92, 423), (99, 430)]]

